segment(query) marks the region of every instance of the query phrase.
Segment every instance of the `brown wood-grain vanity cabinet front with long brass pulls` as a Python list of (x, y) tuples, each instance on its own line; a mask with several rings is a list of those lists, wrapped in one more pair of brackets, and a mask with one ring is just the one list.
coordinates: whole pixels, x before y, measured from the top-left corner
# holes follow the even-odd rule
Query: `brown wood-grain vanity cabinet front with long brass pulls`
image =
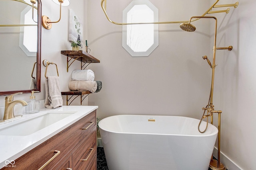
[(44, 170), (96, 170), (96, 153), (95, 110), (20, 156), (15, 160), (15, 167), (38, 170), (51, 160)]

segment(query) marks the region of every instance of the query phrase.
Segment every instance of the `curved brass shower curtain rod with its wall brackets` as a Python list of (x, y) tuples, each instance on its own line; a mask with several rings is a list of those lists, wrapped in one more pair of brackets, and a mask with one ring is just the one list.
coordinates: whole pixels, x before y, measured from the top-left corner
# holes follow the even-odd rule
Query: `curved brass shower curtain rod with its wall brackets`
[[(219, 2), (219, 0), (216, 0), (212, 6), (210, 6), (210, 8), (208, 10), (206, 10), (206, 12), (204, 12), (204, 14), (202, 14), (202, 16), (205, 16), (206, 14), (213, 14), (213, 13), (220, 13), (220, 12), (225, 12), (226, 14), (228, 14), (228, 12), (230, 11), (230, 9), (226, 9), (226, 10), (218, 10), (218, 11), (212, 11), (212, 8), (220, 8), (220, 7), (234, 7), (236, 8), (238, 6), (238, 2), (236, 2), (235, 4), (224, 4), (224, 5), (216, 5)], [(162, 22), (141, 22), (141, 23), (119, 23), (119, 22), (115, 22), (110, 20), (110, 18), (108, 17), (107, 14), (107, 0), (101, 0), (101, 8), (107, 18), (108, 21), (110, 21), (111, 23), (114, 23), (116, 25), (132, 25), (132, 24), (163, 24), (163, 23), (187, 23), (188, 21), (162, 21)], [(199, 20), (200, 18), (196, 18), (194, 20), (191, 21), (196, 21)]]

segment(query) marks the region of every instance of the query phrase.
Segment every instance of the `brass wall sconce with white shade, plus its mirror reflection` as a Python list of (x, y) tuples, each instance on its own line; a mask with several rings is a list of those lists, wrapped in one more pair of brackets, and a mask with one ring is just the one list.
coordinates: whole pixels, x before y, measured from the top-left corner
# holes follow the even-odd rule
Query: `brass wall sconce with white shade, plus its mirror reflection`
[[(29, 0), (25, 0), (29, 1)], [(52, 0), (55, 4), (60, 5), (60, 18), (58, 21), (51, 21), (50, 18), (48, 16), (42, 16), (42, 26), (45, 29), (51, 29), (52, 28), (52, 23), (57, 23), (60, 21), (61, 19), (61, 6), (69, 6), (70, 1), (69, 0)], [(34, 10), (34, 4), (36, 4), (36, 0), (30, 0), (30, 2), (32, 3), (32, 8)], [(34, 12), (32, 12), (34, 14)], [(33, 16), (32, 16), (33, 17)], [(33, 17), (34, 20), (34, 17)]]

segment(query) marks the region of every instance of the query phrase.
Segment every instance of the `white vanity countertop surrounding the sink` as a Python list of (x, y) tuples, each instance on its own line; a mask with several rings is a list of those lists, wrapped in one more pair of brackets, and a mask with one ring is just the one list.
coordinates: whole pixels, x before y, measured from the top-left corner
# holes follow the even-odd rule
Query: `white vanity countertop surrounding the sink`
[[(66, 127), (72, 125), (82, 117), (88, 115), (92, 111), (96, 110), (98, 106), (62, 106), (56, 109), (40, 109), (39, 113), (34, 114), (22, 114), (22, 117), (14, 119), (12, 121), (0, 123), (0, 130), (13, 124), (20, 123), (27, 119), (38, 117), (47, 113), (74, 113), (48, 127), (45, 127), (31, 135), (26, 136), (10, 136), (0, 135), (0, 169), (6, 166), (6, 163), (14, 162), (13, 160), (19, 158), (26, 152), (37, 147), (47, 139), (50, 139)], [(14, 113), (18, 115), (19, 113)], [(30, 127), (33, 128), (33, 127)], [(19, 131), (19, 129), (17, 129)], [(14, 164), (15, 165), (15, 164)]]

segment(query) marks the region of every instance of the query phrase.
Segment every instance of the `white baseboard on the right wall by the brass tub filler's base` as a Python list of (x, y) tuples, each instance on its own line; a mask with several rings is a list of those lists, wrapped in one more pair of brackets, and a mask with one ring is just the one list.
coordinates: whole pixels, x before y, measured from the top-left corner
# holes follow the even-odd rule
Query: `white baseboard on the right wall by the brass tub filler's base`
[[(218, 158), (218, 149), (214, 147), (213, 156)], [(228, 156), (220, 151), (220, 162), (228, 169), (228, 170), (243, 170), (240, 168), (235, 162), (233, 162)]]

